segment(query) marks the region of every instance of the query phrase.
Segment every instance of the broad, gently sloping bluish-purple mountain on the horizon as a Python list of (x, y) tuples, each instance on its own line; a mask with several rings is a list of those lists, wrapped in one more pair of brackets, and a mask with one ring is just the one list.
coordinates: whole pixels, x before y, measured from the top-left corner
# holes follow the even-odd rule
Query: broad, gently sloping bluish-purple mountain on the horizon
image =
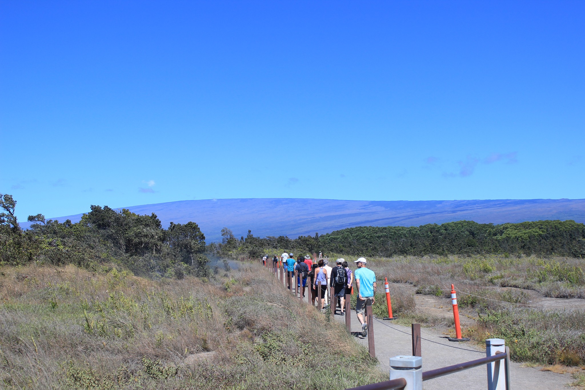
[[(585, 199), (496, 199), (471, 201), (343, 201), (336, 199), (250, 198), (176, 201), (124, 207), (133, 213), (155, 213), (163, 227), (170, 222), (197, 222), (207, 241), (220, 241), (229, 227), (236, 237), (248, 229), (254, 236), (331, 233), (355, 226), (419, 226), (473, 220), (517, 223), (572, 219), (585, 223)], [(82, 214), (56, 217), (78, 222)], [(23, 223), (27, 227), (30, 223)]]

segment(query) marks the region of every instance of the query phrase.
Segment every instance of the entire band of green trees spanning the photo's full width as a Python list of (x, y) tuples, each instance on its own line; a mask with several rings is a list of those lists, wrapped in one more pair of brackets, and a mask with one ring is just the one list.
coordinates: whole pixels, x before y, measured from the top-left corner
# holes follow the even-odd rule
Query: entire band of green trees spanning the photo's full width
[[(585, 225), (573, 220), (493, 225), (458, 221), (422, 226), (360, 226), (319, 236), (246, 237), (236, 239), (222, 229), (221, 244), (205, 245), (197, 223), (170, 223), (163, 229), (152, 215), (137, 215), (108, 206), (91, 206), (81, 221), (63, 223), (29, 216), (33, 223), (20, 229), (16, 201), (0, 194), (0, 264), (77, 264), (94, 267), (116, 263), (139, 273), (182, 277), (185, 273), (207, 276), (208, 256), (260, 257), (280, 250), (299, 253), (341, 253), (356, 256), (426, 254), (540, 254), (583, 257)], [(227, 263), (225, 263), (227, 264)], [(226, 265), (227, 267), (227, 265)]]

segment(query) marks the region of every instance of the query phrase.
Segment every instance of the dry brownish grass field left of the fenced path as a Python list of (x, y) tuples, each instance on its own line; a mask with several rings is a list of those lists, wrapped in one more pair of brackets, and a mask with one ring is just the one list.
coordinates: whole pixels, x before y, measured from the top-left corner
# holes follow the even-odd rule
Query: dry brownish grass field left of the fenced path
[(154, 281), (116, 268), (3, 267), (0, 384), (321, 389), (384, 378), (341, 324), (261, 267), (239, 268)]

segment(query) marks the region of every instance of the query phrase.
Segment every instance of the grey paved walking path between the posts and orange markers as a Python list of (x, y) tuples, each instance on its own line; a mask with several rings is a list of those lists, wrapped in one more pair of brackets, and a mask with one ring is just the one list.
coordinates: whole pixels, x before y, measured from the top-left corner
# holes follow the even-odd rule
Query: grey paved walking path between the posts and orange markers
[[(357, 320), (355, 310), (352, 310), (352, 334), (361, 332), (362, 328)], [(335, 315), (335, 319), (345, 323), (345, 316)], [(404, 332), (404, 333), (402, 333)], [(434, 370), (452, 364), (476, 360), (486, 356), (486, 351), (480, 350), (472, 343), (453, 343), (441, 338), (442, 334), (428, 328), (421, 328), (422, 340), (422, 369)], [(367, 348), (367, 337), (355, 336), (358, 343)], [(393, 324), (391, 321), (374, 319), (374, 342), (376, 357), (380, 361), (380, 368), (388, 372), (390, 358), (397, 355), (412, 354), (412, 338), (409, 327)], [(438, 344), (437, 344), (438, 343)], [(457, 349), (452, 347), (460, 347)], [(472, 351), (469, 351), (472, 350)], [(573, 381), (569, 374), (555, 374), (539, 371), (536, 368), (521, 367), (520, 363), (511, 362), (512, 389), (567, 389), (566, 385)], [(423, 382), (425, 390), (485, 390), (487, 388), (486, 366), (470, 368), (455, 374), (445, 375)]]

